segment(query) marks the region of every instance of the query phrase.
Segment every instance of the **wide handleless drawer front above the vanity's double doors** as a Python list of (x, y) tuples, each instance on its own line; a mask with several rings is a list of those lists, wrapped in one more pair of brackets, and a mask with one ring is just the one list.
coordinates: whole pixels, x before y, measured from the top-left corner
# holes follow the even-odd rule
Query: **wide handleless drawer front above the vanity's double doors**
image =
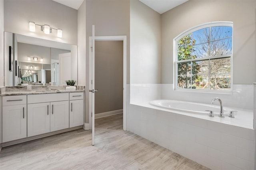
[(28, 95), (28, 104), (68, 100), (68, 93)]

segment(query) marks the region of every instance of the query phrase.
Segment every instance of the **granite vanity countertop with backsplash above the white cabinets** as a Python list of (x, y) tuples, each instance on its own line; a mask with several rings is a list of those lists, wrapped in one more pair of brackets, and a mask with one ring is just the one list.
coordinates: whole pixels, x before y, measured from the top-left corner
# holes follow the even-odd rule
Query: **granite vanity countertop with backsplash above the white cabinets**
[[(56, 88), (56, 86), (49, 86), (49, 90), (46, 91), (46, 87), (32, 88), (32, 91), (27, 91), (27, 87), (12, 87), (13, 90), (1, 90), (0, 96), (12, 96), (12, 95), (35, 95), (35, 94), (48, 94), (48, 93), (75, 93), (84, 92), (84, 86), (78, 86), (77, 90), (66, 90), (65, 88)], [(52, 88), (51, 88), (52, 87)], [(55, 87), (55, 88), (54, 88)]]

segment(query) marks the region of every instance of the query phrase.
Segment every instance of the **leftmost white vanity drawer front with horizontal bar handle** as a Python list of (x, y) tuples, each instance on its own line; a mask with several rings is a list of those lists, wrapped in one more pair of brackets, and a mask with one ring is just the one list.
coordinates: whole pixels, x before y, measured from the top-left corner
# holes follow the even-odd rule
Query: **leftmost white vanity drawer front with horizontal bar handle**
[(27, 104), (26, 95), (3, 96), (3, 106), (24, 105), (24, 104)]

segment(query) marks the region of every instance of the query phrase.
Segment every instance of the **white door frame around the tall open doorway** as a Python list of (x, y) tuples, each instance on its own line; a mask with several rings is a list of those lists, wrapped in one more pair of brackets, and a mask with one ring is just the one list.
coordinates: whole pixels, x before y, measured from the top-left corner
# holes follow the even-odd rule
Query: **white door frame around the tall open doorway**
[[(127, 123), (127, 115), (126, 115), (126, 49), (127, 42), (126, 36), (95, 36), (95, 41), (123, 41), (123, 130), (126, 131)], [(89, 37), (89, 81), (92, 81), (92, 36)], [(92, 83), (89, 83), (89, 88), (92, 89)], [(89, 100), (92, 100), (92, 93), (89, 93)], [(91, 102), (90, 102), (91, 103)], [(92, 113), (92, 105), (89, 105), (89, 113)], [(89, 125), (92, 128), (92, 116), (89, 114)]]

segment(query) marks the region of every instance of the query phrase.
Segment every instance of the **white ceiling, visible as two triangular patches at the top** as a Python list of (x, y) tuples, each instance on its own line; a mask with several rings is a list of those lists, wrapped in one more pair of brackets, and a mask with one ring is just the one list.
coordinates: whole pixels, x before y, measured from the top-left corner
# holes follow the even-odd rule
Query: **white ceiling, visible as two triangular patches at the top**
[[(84, 2), (84, 0), (53, 0), (53, 1), (69, 6), (76, 10), (78, 10), (78, 8)], [(140, 2), (146, 4), (147, 6), (149, 6), (156, 12), (158, 12), (159, 14), (162, 14), (187, 1), (188, 0), (140, 0)]]

